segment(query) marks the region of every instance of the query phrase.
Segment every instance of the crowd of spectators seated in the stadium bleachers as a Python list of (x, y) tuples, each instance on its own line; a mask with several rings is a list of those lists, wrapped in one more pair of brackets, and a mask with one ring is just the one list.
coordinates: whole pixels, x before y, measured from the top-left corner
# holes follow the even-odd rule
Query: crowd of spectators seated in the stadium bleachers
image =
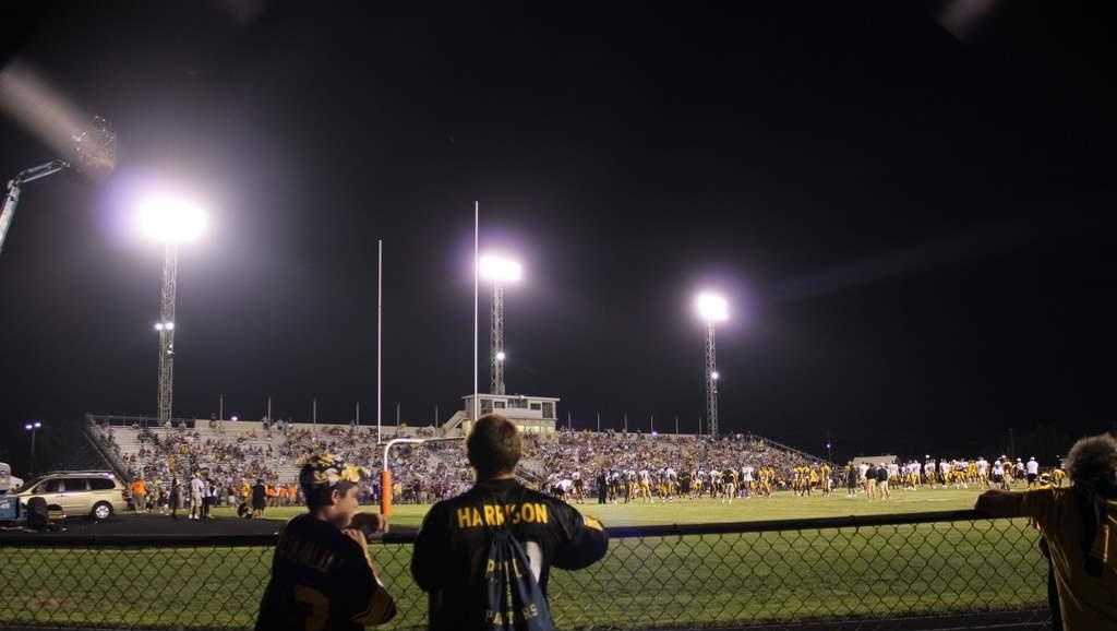
[[(229, 422), (210, 422), (203, 427), (96, 426), (103, 444), (120, 456), (128, 475), (144, 478), (156, 487), (172, 478), (189, 480), (193, 472), (203, 471), (207, 480), (221, 489), (222, 497), (237, 495), (257, 479), (281, 491), (296, 481), (297, 465), (303, 459), (328, 452), (344, 462), (367, 468), (373, 474), (361, 495), (366, 500), (379, 496), (379, 479), (374, 473), (382, 467), (383, 448), (376, 445), (375, 427), (290, 423), (265, 423), (249, 431), (236, 427)], [(114, 430), (131, 432), (126, 449), (121, 449)], [(430, 436), (435, 431), (426, 427), (418, 434)], [(575, 471), (575, 477), (591, 482), (600, 472), (626, 469), (684, 471), (747, 465), (772, 469), (777, 479), (790, 480), (796, 468), (814, 462), (805, 454), (741, 434), (714, 439), (560, 431), (548, 436), (524, 435), (524, 450), (517, 474), (536, 488), (546, 488), (547, 480), (569, 478)], [(452, 497), (472, 482), (462, 442), (401, 445), (392, 451), (390, 459), (392, 495), (399, 502)], [(299, 501), (297, 496), (287, 498), (283, 492), (277, 497)]]

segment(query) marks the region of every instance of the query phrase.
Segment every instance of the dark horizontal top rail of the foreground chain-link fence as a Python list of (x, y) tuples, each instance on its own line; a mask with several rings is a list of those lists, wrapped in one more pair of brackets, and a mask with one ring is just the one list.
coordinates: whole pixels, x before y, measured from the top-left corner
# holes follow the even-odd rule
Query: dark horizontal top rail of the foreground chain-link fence
[[(944, 510), (903, 515), (866, 515), (856, 517), (821, 517), (811, 519), (777, 519), (765, 521), (732, 521), (724, 524), (679, 524), (660, 526), (618, 526), (609, 529), (613, 539), (672, 537), (698, 535), (734, 535), (744, 533), (782, 533), (789, 530), (827, 530), (834, 528), (871, 528), (996, 519), (976, 510)], [(277, 529), (279, 525), (277, 524)], [(277, 535), (71, 535), (65, 533), (10, 533), (0, 536), (0, 547), (250, 547), (271, 546)], [(412, 544), (416, 533), (389, 533), (383, 544)]]

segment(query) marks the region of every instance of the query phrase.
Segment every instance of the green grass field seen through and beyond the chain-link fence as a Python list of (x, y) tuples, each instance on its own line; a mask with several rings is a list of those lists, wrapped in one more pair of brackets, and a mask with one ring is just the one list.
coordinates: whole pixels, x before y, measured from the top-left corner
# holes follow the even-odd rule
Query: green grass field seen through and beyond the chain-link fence
[[(584, 505), (608, 526), (836, 517), (970, 508), (976, 491), (899, 491), (868, 502), (780, 493), (723, 505)], [(427, 507), (398, 506), (420, 522)], [(271, 509), (287, 518), (296, 509)], [(1042, 606), (1046, 566), (1022, 520), (860, 529), (613, 539), (583, 572), (555, 571), (561, 628), (703, 627), (757, 621), (889, 618)], [(426, 597), (408, 573), (410, 546), (374, 545), (400, 615), (423, 624)], [(0, 548), (0, 624), (244, 628), (267, 581), (268, 548)], [(996, 576), (990, 581), (991, 576)]]

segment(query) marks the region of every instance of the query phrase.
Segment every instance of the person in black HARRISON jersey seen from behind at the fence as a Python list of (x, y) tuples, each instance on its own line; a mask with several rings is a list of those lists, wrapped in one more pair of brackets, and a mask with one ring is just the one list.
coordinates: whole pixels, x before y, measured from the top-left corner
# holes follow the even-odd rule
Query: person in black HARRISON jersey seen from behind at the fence
[(609, 537), (598, 520), (516, 481), (523, 445), (507, 418), (479, 418), (467, 453), (476, 483), (431, 507), (411, 557), (411, 575), (430, 597), (429, 628), (551, 629), (551, 566), (588, 567), (605, 555)]

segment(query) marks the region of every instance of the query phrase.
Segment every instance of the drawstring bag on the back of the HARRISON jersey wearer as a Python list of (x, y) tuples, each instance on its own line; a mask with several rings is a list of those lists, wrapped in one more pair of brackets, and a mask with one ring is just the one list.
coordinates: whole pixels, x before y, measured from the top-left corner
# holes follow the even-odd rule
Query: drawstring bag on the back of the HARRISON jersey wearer
[[(516, 505), (523, 501), (519, 497)], [(494, 502), (503, 510), (500, 502)], [(502, 514), (503, 515), (503, 514)], [(507, 516), (504, 516), (507, 519)], [(490, 631), (553, 631), (551, 608), (532, 572), (524, 546), (508, 530), (489, 529), (489, 549), (481, 583), (485, 586), (485, 628)]]

